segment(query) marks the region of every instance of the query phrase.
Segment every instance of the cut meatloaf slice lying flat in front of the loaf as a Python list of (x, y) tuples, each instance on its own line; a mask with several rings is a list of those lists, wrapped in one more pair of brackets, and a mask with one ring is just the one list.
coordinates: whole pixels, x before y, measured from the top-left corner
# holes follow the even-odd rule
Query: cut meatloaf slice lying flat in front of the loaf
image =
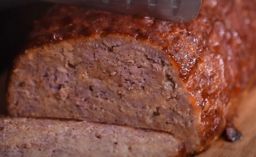
[(164, 131), (46, 118), (0, 118), (0, 156), (181, 157), (180, 139)]

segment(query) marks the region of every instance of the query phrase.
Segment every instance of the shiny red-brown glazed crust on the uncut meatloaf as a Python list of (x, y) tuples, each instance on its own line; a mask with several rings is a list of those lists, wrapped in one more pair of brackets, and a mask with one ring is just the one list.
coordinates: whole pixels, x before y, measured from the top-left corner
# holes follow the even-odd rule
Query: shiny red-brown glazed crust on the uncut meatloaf
[(202, 144), (224, 130), (231, 104), (255, 73), (255, 0), (203, 0), (187, 24), (56, 6), (35, 22), (30, 46), (109, 34), (151, 42), (170, 56), (201, 111)]

